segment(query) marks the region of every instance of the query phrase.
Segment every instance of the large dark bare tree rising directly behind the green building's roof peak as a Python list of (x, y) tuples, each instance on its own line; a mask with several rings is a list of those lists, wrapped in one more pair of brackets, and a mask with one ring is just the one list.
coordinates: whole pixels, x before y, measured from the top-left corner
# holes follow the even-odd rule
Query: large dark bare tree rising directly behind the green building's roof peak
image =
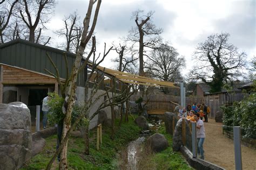
[[(52, 9), (55, 7), (55, 0), (21, 0), (16, 8), (16, 17), (22, 21), (29, 30), (28, 39), (30, 42), (42, 42), (42, 30), (45, 30), (45, 23), (49, 21)], [(39, 28), (38, 28), (39, 26)], [(45, 39), (48, 43), (50, 37)]]

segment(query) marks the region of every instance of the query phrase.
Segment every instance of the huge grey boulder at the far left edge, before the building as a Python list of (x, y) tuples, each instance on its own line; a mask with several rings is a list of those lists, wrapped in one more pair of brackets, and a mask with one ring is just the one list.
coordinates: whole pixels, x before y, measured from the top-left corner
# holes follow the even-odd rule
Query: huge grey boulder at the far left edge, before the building
[(0, 169), (19, 169), (31, 158), (29, 108), (21, 103), (0, 104)]

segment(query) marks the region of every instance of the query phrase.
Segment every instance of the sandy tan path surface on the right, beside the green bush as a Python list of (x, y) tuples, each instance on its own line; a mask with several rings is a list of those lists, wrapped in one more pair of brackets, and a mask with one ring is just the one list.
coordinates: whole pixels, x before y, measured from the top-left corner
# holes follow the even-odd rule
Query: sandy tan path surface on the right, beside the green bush
[[(222, 133), (222, 123), (208, 119), (205, 123), (205, 160), (225, 169), (235, 169), (233, 140)], [(256, 169), (256, 149), (241, 146), (242, 169)]]

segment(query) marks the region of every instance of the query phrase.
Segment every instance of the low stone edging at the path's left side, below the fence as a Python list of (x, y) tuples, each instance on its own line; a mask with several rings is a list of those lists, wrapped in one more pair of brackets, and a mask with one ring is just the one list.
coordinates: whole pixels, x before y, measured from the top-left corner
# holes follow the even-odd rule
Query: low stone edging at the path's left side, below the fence
[(183, 154), (188, 164), (190, 164), (190, 166), (192, 166), (195, 169), (204, 169), (204, 170), (212, 170), (212, 169), (223, 170), (224, 169), (217, 165), (211, 164), (210, 162), (207, 162), (205, 160), (193, 158), (192, 153), (185, 146), (180, 147), (180, 152)]

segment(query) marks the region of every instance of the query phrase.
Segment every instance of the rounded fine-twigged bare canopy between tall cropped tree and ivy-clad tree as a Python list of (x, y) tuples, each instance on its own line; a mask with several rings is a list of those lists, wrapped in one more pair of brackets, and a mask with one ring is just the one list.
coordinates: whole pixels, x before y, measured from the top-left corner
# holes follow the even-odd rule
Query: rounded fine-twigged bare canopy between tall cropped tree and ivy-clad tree
[(145, 62), (146, 72), (153, 78), (165, 81), (181, 80), (181, 70), (185, 68), (184, 57), (169, 44), (161, 44), (157, 49), (151, 51)]

